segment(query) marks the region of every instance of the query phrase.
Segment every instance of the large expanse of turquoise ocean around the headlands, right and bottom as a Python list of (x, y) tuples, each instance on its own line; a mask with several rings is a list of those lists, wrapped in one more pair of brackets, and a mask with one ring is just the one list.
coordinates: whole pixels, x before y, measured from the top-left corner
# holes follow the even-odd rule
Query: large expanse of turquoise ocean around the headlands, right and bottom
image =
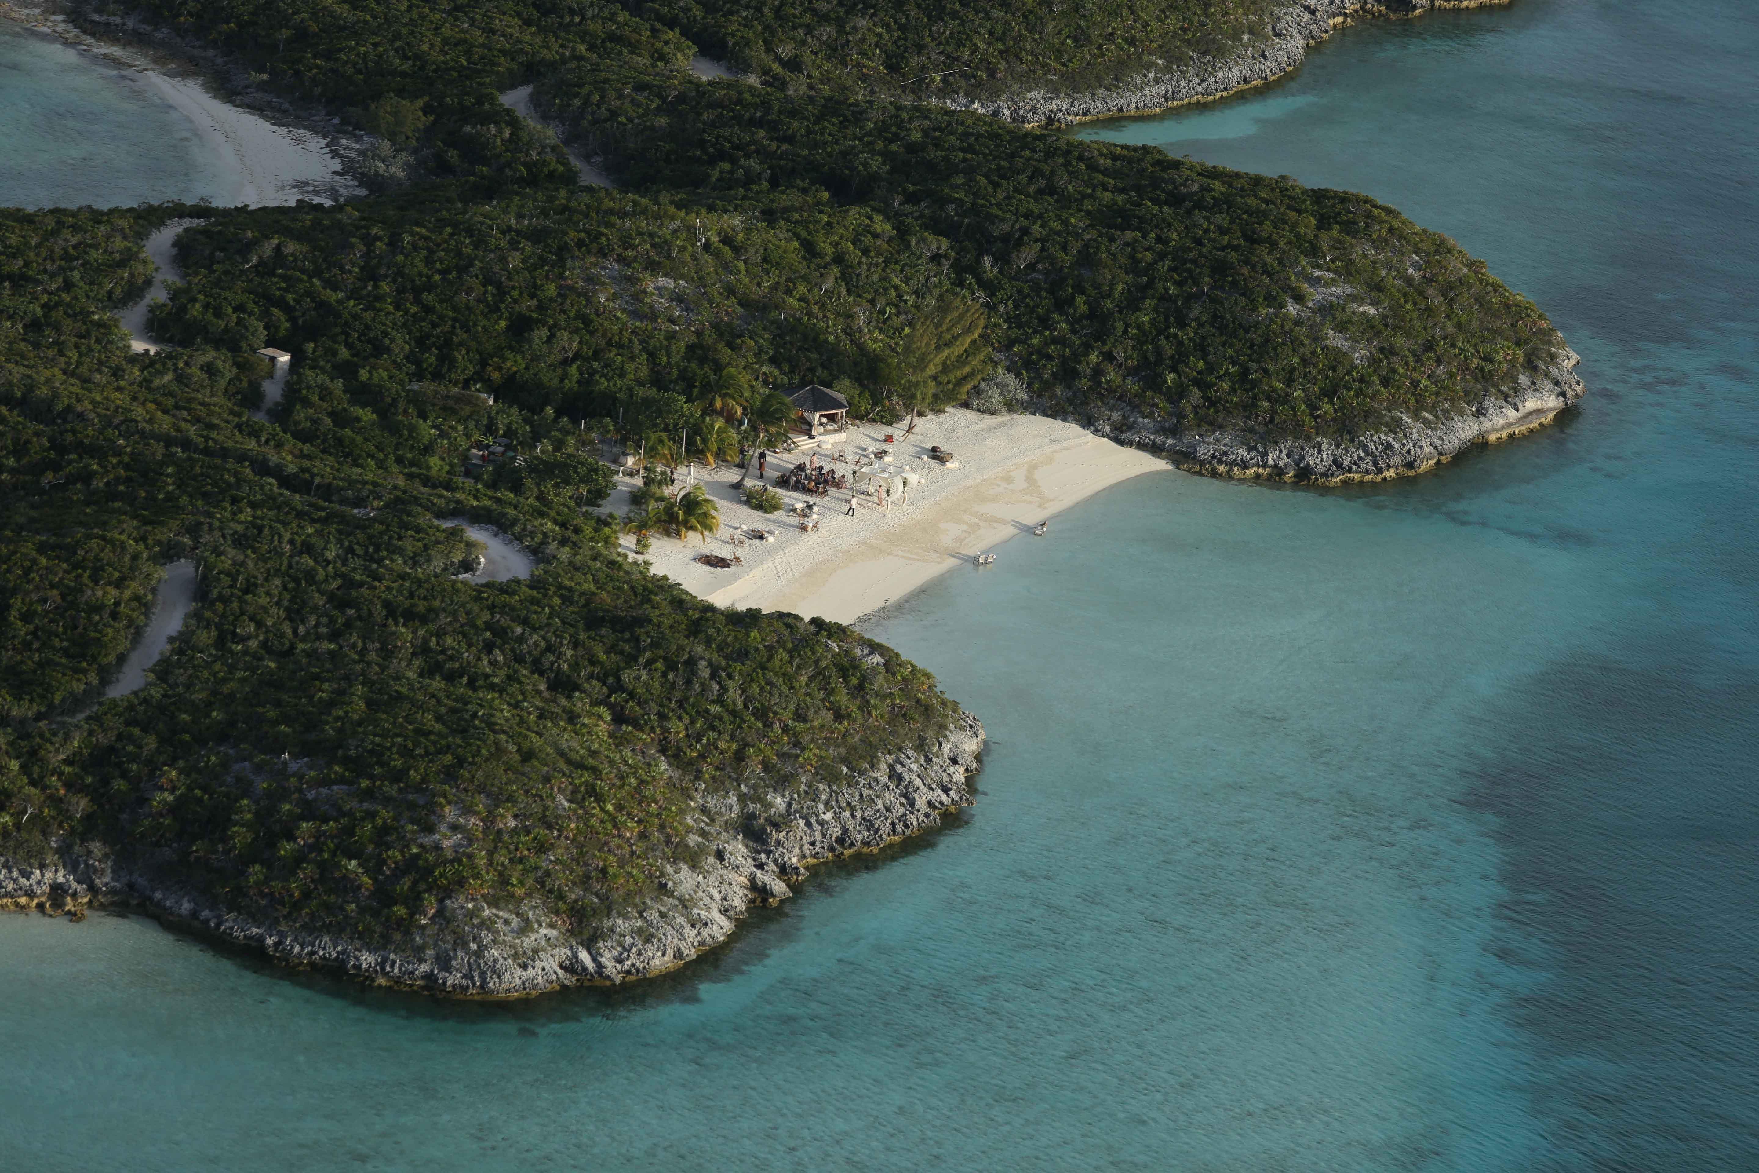
[(1759, 1168), (1754, 60), (1733, 0), (1522, 0), (1084, 127), (1398, 206), (1592, 396), (931, 584), (871, 630), (983, 716), (980, 804), (631, 990), (0, 918), (0, 1166)]

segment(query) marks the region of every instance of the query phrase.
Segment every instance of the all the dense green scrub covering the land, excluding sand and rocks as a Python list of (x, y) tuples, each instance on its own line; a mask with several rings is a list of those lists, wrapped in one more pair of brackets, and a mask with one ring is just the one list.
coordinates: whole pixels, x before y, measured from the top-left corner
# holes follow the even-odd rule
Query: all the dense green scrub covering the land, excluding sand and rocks
[[(814, 380), (857, 415), (969, 392), (1347, 438), (1560, 345), (1367, 197), (897, 100), (1215, 55), (1261, 0), (142, 11), (376, 135), (375, 195), (0, 213), (0, 856), (102, 844), (278, 923), (387, 932), (480, 895), (589, 936), (688, 856), (705, 793), (946, 726), (860, 635), (624, 561), (619, 526), (712, 517), (660, 477), (595, 517), (600, 434), (734, 459)], [(693, 77), (698, 49), (762, 84)], [(501, 104), (519, 84), (624, 186), (579, 188)], [(107, 311), (172, 215), (204, 218), (153, 320), (176, 348), (132, 355)], [(271, 422), (246, 413), (264, 345), (296, 359)], [(461, 580), (452, 517), (538, 572)], [(185, 633), (91, 707), (176, 557)]]

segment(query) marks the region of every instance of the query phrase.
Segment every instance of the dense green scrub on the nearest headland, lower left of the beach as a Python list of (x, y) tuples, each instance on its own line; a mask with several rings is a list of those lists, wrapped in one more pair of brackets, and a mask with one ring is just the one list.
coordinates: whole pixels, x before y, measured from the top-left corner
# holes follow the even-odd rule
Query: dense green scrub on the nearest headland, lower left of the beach
[[(895, 654), (700, 603), (572, 498), (433, 471), (390, 427), (413, 417), (336, 412), (308, 443), (246, 415), (250, 355), (130, 355), (104, 310), (157, 218), (0, 216), (0, 297), (35, 306), (0, 339), (0, 855), (97, 841), (278, 923), (389, 932), (475, 893), (589, 934), (688, 855), (704, 791), (945, 726)], [(521, 422), (544, 429), (496, 406)], [(540, 570), (459, 580), (452, 515)], [(69, 719), (172, 557), (201, 600), (155, 684)]]

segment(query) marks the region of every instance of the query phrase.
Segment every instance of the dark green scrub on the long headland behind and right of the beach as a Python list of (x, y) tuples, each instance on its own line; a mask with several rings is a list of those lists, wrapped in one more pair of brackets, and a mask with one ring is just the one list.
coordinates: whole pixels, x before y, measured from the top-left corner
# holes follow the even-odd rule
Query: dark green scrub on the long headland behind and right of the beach
[(1353, 434), (1550, 359), (1544, 317), (1453, 241), (1349, 192), (938, 107), (702, 84), (552, 104), (639, 186), (885, 216), (976, 290), (1054, 410)]

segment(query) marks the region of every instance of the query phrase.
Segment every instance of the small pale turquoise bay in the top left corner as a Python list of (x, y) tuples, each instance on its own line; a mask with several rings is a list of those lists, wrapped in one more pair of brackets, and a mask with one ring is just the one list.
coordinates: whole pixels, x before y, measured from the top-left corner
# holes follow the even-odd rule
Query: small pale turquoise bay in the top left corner
[(132, 69), (0, 19), (0, 208), (227, 200), (227, 160)]

